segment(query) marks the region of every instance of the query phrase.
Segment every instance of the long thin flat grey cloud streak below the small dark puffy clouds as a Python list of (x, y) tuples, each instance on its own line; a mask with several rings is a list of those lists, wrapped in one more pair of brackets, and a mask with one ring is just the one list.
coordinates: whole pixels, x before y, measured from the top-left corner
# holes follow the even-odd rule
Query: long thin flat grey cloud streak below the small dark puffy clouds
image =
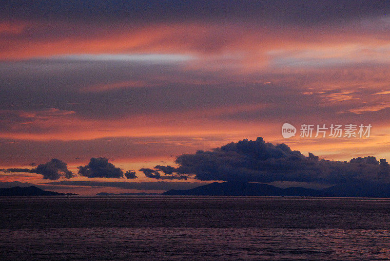
[(190, 189), (203, 186), (209, 183), (203, 182), (182, 182), (182, 181), (156, 181), (156, 182), (104, 182), (104, 181), (58, 181), (44, 183), (48, 185), (63, 186), (107, 186), (137, 190), (169, 190), (169, 189)]

